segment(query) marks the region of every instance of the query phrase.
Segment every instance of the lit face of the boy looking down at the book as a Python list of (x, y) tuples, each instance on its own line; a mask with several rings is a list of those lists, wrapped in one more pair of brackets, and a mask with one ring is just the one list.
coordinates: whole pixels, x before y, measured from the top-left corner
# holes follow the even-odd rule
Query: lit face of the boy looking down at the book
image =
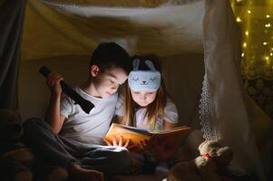
[(112, 66), (105, 71), (98, 71), (97, 75), (93, 76), (93, 85), (100, 97), (106, 98), (116, 92), (127, 77), (122, 68)]

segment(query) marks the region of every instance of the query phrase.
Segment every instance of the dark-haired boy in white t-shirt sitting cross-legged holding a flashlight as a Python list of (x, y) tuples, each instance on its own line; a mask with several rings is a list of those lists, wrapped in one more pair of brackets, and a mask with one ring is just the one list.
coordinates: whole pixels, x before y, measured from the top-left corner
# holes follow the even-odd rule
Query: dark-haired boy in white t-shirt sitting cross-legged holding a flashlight
[[(94, 104), (86, 114), (69, 97), (61, 96), (62, 76), (51, 72), (47, 85), (51, 99), (46, 122), (24, 122), (24, 141), (51, 165), (66, 167), (75, 180), (103, 180), (106, 174), (121, 174), (130, 168), (126, 148), (101, 146), (117, 102), (116, 90), (126, 81), (132, 63), (116, 43), (101, 43), (94, 50), (89, 78), (77, 91)], [(102, 172), (101, 172), (102, 171)]]

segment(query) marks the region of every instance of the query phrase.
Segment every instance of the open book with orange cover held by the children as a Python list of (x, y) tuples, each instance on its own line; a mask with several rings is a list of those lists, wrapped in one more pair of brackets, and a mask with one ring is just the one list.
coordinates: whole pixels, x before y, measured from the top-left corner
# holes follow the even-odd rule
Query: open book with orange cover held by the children
[(190, 127), (177, 127), (175, 129), (161, 130), (161, 131), (152, 131), (149, 132), (145, 129), (138, 129), (135, 127), (124, 126), (121, 124), (112, 123), (108, 133), (105, 136), (105, 139), (112, 142), (112, 138), (119, 138), (122, 136), (123, 141), (131, 139), (132, 144), (140, 144), (144, 139), (149, 140), (150, 138), (165, 139), (171, 138), (173, 143), (180, 142), (181, 138), (184, 138)]

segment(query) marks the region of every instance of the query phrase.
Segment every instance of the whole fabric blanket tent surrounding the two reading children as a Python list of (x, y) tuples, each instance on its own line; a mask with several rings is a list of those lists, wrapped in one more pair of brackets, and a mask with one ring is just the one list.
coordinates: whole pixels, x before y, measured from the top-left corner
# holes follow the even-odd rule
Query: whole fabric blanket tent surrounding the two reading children
[(43, 117), (46, 109), (39, 66), (76, 84), (94, 47), (114, 41), (131, 54), (158, 54), (181, 124), (201, 129), (204, 138), (224, 138), (234, 167), (267, 180), (272, 127), (242, 88), (239, 29), (228, 0), (76, 2), (27, 2), (19, 77), (24, 118)]

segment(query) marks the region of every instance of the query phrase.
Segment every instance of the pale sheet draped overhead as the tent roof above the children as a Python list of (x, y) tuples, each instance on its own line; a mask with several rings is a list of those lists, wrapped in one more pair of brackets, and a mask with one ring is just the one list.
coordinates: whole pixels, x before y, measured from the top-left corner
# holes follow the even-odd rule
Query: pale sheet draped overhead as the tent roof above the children
[(120, 43), (132, 54), (203, 52), (202, 1), (156, 8), (43, 2), (29, 0), (26, 6), (23, 60), (90, 55), (104, 41)]

